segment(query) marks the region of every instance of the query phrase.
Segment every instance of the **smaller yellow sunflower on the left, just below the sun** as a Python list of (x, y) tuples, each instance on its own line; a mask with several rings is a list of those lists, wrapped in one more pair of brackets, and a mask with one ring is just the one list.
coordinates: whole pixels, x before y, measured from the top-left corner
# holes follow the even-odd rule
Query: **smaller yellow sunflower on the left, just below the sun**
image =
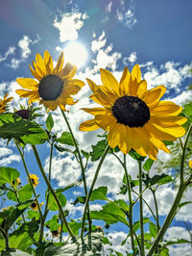
[(84, 82), (72, 79), (77, 72), (76, 65), (67, 63), (63, 68), (63, 52), (60, 54), (56, 67), (53, 67), (53, 60), (49, 52), (44, 52), (44, 59), (36, 54), (36, 63), (30, 65), (31, 72), (36, 78), (17, 78), (16, 82), (24, 90), (16, 90), (20, 97), (29, 97), (29, 104), (39, 101), (48, 110), (56, 110), (58, 106), (65, 111), (65, 105), (74, 105), (71, 95), (77, 94)]

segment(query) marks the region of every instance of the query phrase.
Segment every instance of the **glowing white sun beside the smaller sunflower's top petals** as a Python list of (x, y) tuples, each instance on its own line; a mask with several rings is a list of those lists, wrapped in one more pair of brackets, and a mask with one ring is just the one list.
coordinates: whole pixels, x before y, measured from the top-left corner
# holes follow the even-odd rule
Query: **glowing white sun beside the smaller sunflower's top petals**
[(84, 45), (78, 41), (69, 42), (63, 49), (64, 59), (66, 62), (82, 67), (87, 59), (87, 52)]

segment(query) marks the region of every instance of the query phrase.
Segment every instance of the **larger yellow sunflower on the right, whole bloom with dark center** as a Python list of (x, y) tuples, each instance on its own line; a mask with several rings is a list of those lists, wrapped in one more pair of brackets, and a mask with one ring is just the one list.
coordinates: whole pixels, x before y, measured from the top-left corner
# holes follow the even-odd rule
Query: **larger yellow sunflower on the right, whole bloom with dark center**
[(159, 101), (165, 93), (164, 86), (147, 90), (141, 80), (138, 64), (124, 68), (120, 83), (107, 69), (101, 69), (103, 85), (97, 86), (87, 79), (93, 94), (90, 98), (103, 108), (84, 108), (94, 118), (80, 125), (81, 131), (102, 128), (108, 132), (108, 144), (127, 154), (134, 149), (139, 155), (156, 160), (158, 149), (169, 153), (163, 141), (175, 141), (185, 134), (180, 126), (187, 119), (177, 116), (181, 107), (170, 101)]

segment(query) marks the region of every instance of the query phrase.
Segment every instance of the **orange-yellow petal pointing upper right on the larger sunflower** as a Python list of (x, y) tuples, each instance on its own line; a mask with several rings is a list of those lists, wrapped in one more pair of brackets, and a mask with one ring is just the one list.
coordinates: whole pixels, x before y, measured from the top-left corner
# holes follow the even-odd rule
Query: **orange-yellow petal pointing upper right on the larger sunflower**
[(165, 93), (166, 88), (164, 86), (158, 86), (152, 90), (148, 90), (143, 100), (148, 106), (158, 102), (162, 95)]

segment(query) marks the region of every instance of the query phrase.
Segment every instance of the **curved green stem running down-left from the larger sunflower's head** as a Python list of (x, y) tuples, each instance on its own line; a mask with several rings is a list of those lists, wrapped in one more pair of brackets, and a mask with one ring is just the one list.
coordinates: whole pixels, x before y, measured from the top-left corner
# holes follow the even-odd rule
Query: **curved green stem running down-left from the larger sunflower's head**
[(109, 150), (109, 149), (110, 149), (110, 147), (109, 147), (109, 145), (108, 145), (108, 146), (106, 147), (106, 149), (105, 149), (105, 152), (104, 152), (104, 154), (103, 154), (103, 156), (102, 156), (100, 162), (99, 162), (99, 165), (97, 166), (97, 169), (96, 169), (96, 171), (95, 171), (95, 176), (94, 176), (93, 181), (92, 181), (92, 184), (91, 184), (91, 186), (90, 186), (90, 190), (89, 190), (89, 192), (88, 192), (88, 194), (87, 194), (87, 196), (86, 196), (86, 201), (85, 201), (85, 204), (84, 204), (84, 217), (83, 217), (82, 231), (81, 231), (81, 238), (82, 238), (82, 240), (84, 239), (84, 221), (85, 221), (86, 209), (87, 209), (87, 206), (88, 206), (88, 202), (89, 202), (89, 199), (90, 199), (90, 195), (91, 195), (91, 192), (93, 191), (93, 188), (94, 188), (95, 182), (96, 182), (96, 180), (97, 180), (99, 171), (100, 171), (101, 166), (102, 166), (102, 164), (103, 164), (103, 162), (104, 162), (104, 160), (105, 160), (105, 158), (106, 158), (106, 156), (107, 156), (107, 154), (108, 154), (108, 150)]

